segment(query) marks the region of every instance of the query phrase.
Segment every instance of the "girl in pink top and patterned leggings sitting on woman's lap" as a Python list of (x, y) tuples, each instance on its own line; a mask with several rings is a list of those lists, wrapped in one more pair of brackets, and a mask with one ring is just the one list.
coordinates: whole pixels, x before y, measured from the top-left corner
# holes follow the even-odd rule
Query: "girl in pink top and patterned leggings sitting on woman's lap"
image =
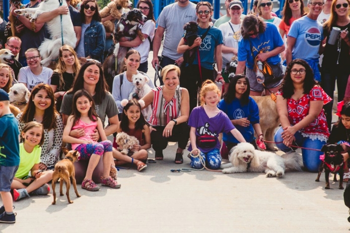
[[(75, 128), (84, 128), (84, 135), (79, 138), (71, 137), (70, 131)], [(92, 140), (91, 134), (94, 134), (94, 129), (98, 130), (102, 142)], [(121, 185), (109, 175), (113, 162), (112, 143), (107, 140), (102, 121), (95, 113), (93, 99), (85, 89), (77, 91), (73, 96), (72, 115), (68, 117), (67, 125), (63, 131), (63, 140), (71, 143), (72, 149), (80, 153), (80, 160), (89, 160), (81, 188), (88, 191), (100, 190), (100, 187), (92, 180), (92, 173), (102, 155), (102, 185), (120, 188)]]

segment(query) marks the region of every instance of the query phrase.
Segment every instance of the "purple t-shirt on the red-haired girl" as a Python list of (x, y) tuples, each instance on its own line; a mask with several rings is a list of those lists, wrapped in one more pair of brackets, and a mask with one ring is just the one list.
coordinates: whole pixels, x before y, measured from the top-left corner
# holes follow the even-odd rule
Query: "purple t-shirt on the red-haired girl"
[[(206, 111), (201, 106), (192, 110), (188, 125), (196, 128), (196, 138), (206, 134), (217, 138), (219, 133), (228, 133), (235, 128), (224, 112), (220, 111), (215, 117), (209, 118)], [(207, 153), (214, 148), (220, 149), (220, 143), (219, 140), (217, 140), (214, 148), (201, 148), (198, 145), (197, 148), (201, 152)], [(188, 150), (192, 151), (192, 145), (189, 146)]]

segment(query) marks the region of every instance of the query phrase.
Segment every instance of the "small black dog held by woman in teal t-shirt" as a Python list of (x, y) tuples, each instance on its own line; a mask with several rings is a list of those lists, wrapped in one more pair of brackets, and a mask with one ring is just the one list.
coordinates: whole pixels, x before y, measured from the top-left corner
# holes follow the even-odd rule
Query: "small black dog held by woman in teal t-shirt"
[[(198, 23), (195, 21), (190, 21), (184, 25), (185, 35), (184, 41), (185, 45), (192, 46), (198, 36)], [(196, 58), (197, 47), (191, 50), (187, 50), (184, 53), (184, 62), (183, 64), (192, 64)]]

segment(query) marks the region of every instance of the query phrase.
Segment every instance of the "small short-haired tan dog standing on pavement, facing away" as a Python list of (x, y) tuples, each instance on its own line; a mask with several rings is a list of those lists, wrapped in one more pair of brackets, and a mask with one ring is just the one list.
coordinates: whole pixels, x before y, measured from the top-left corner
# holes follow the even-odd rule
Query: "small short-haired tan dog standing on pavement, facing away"
[(55, 165), (55, 171), (52, 174), (52, 189), (54, 193), (54, 201), (52, 202), (53, 205), (56, 204), (56, 182), (59, 178), (60, 180), (60, 196), (63, 196), (63, 182), (66, 182), (66, 195), (68, 199), (68, 203), (73, 203), (73, 201), (70, 200), (70, 178), (72, 179), (74, 191), (77, 197), (80, 197), (78, 191), (76, 190), (76, 181), (75, 181), (75, 170), (73, 163), (77, 161), (77, 158), (79, 157), (79, 152), (77, 151), (70, 151), (66, 147), (62, 147), (63, 153), (66, 155), (66, 157), (58, 162)]

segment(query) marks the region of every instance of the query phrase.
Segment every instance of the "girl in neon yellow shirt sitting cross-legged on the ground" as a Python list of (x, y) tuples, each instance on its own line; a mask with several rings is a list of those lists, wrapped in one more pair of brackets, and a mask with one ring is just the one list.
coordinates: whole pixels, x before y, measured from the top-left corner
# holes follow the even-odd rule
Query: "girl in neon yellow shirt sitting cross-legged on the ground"
[[(30, 195), (47, 195), (52, 179), (52, 170), (39, 170), (41, 145), (44, 143), (44, 127), (41, 123), (30, 121), (26, 123), (21, 132), (23, 143), (19, 144), (20, 163), (11, 189), (13, 200), (18, 201)], [(28, 174), (31, 176), (28, 176)]]

